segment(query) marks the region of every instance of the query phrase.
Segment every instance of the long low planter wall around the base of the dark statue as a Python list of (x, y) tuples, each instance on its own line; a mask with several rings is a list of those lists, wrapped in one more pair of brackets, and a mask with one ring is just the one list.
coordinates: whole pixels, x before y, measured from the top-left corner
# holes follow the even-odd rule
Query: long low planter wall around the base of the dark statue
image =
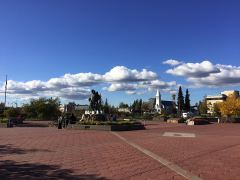
[(132, 131), (145, 129), (144, 125), (69, 125), (68, 129), (98, 130), (98, 131)]

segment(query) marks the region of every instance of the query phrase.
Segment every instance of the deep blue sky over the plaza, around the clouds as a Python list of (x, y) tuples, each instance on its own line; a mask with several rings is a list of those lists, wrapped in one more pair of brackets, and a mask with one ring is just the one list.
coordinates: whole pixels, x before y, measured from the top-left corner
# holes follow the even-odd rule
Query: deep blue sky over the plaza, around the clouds
[[(130, 71), (152, 71), (163, 82), (176, 81), (176, 87), (179, 84), (189, 87), (192, 103), (195, 103), (206, 94), (239, 89), (240, 80), (219, 80), (223, 75), (240, 75), (239, 8), (238, 0), (0, 0), (0, 83), (8, 74), (14, 81), (9, 85), (9, 103), (22, 102), (32, 97), (32, 91), (37, 91), (39, 86), (31, 89), (31, 93), (23, 93), (23, 89), (29, 90), (29, 87), (19, 82), (47, 82), (66, 73), (104, 75), (116, 66), (124, 66)], [(178, 65), (181, 67), (166, 73), (178, 67), (163, 64), (169, 59), (181, 62)], [(204, 60), (211, 63), (207, 64), (210, 67), (199, 67), (206, 68), (208, 76), (201, 76), (195, 66)], [(195, 74), (182, 72), (186, 68), (194, 70)], [(214, 68), (220, 69), (222, 74), (213, 73)], [(216, 83), (202, 82), (205, 78)], [(136, 98), (147, 100), (155, 95), (154, 88), (139, 90), (135, 87), (138, 93), (128, 94), (126, 87), (106, 89), (114, 83), (129, 84), (128, 79), (125, 80), (107, 83), (101, 80), (91, 86), (78, 84), (78, 88), (84, 88), (84, 92), (95, 88), (115, 105), (121, 101), (130, 103)], [(153, 79), (147, 78), (144, 82), (146, 80)], [(196, 82), (200, 80), (199, 86)], [(139, 83), (139, 79), (130, 84), (133, 83)], [(132, 86), (130, 90), (133, 91)], [(52, 91), (47, 92), (48, 96), (52, 96)], [(166, 89), (162, 94), (164, 99), (171, 99)], [(76, 101), (87, 102), (83, 99)], [(73, 99), (65, 97), (63, 101), (69, 100)]]

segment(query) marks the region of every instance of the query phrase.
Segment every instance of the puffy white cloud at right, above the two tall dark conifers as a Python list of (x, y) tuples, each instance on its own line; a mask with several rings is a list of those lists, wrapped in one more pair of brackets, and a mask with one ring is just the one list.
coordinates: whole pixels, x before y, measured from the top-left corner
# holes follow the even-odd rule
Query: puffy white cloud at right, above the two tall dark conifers
[(191, 87), (221, 87), (240, 85), (240, 67), (213, 64), (210, 61), (183, 63), (166, 71), (168, 74), (183, 76)]

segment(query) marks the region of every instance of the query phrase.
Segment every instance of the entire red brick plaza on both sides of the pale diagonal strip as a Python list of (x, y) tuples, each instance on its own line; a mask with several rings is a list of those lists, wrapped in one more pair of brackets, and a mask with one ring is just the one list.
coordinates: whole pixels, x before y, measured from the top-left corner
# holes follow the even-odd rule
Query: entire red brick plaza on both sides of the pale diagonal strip
[[(163, 136), (166, 132), (195, 137)], [(163, 165), (131, 143), (168, 160), (193, 179), (240, 179), (239, 124), (158, 122), (148, 122), (146, 130), (117, 135), (47, 127), (1, 128), (0, 179), (185, 179), (177, 168)]]

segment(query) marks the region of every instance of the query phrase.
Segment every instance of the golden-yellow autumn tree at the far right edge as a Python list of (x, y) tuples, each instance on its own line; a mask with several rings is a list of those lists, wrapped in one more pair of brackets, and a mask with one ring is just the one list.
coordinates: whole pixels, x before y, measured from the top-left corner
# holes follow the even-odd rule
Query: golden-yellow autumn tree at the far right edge
[(223, 116), (233, 117), (240, 115), (240, 99), (236, 96), (229, 96), (226, 101), (218, 104)]

